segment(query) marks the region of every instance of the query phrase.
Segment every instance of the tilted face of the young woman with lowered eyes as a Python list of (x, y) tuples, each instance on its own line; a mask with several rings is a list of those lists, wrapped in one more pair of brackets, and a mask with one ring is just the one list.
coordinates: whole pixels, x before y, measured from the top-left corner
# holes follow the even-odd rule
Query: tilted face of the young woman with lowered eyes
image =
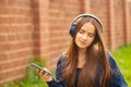
[(79, 49), (86, 50), (95, 38), (95, 26), (92, 23), (85, 23), (76, 34), (75, 44)]

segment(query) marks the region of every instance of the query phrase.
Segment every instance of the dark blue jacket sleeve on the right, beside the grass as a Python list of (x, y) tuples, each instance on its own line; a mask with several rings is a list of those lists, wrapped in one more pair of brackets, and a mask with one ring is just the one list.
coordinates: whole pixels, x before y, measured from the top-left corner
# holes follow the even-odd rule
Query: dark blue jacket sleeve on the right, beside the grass
[(128, 87), (119, 67), (117, 66), (116, 61), (112, 55), (108, 52), (108, 58), (110, 62), (110, 66), (112, 69), (112, 78), (111, 78), (111, 87)]

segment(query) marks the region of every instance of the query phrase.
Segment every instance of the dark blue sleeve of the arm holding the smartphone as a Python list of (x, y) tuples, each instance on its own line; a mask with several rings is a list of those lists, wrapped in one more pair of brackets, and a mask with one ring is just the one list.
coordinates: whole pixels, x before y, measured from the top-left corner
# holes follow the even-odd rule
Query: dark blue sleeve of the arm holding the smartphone
[(60, 59), (57, 62), (56, 79), (52, 79), (51, 82), (47, 83), (49, 87), (66, 87), (64, 82), (61, 79), (63, 73), (62, 62), (63, 58), (60, 57)]

